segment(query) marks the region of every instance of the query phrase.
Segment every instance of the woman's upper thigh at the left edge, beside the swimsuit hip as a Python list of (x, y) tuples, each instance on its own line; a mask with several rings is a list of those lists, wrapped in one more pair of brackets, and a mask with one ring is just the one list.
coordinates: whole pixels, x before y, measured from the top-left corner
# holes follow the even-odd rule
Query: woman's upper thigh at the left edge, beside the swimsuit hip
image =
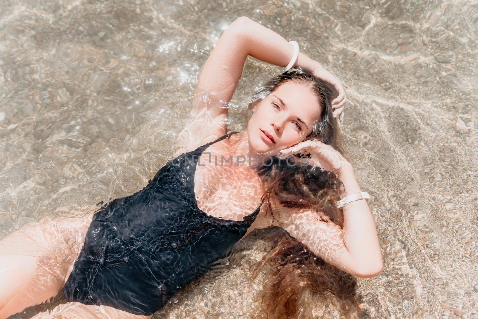
[(68, 209), (56, 211), (84, 215), (43, 218), (0, 241), (0, 319), (41, 304), (63, 288), (98, 207)]

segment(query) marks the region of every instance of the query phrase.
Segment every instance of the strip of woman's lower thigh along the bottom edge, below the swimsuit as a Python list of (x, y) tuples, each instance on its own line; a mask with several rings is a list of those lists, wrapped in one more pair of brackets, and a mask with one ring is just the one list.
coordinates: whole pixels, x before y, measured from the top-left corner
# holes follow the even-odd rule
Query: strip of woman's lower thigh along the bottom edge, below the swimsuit
[(52, 312), (42, 312), (32, 319), (148, 319), (152, 316), (133, 315), (129, 312), (107, 306), (84, 305), (68, 302), (55, 307)]

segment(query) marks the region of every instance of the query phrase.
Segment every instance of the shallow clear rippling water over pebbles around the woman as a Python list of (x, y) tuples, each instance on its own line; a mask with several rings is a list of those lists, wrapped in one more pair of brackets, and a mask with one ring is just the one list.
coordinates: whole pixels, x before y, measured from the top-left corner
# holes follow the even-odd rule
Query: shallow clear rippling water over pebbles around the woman
[[(0, 238), (58, 206), (144, 187), (175, 151), (207, 55), (241, 15), (296, 40), (346, 84), (342, 128), (384, 255), (379, 276), (358, 280), (366, 315), (476, 318), (473, 1), (1, 0)], [(279, 71), (248, 58), (233, 130)], [(161, 318), (243, 318), (257, 307), (247, 272), (257, 245), (244, 243)]]

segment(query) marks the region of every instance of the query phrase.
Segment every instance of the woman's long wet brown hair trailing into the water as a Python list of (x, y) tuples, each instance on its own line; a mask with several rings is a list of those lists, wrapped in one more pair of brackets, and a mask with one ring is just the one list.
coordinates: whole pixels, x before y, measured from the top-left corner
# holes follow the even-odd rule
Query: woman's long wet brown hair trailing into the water
[[(317, 139), (334, 147), (346, 157), (344, 138), (333, 117), (331, 100), (336, 92), (327, 85), (301, 70), (290, 70), (268, 80), (249, 103), (250, 111), (283, 83), (294, 81), (310, 88), (321, 107), (321, 116), (305, 140)], [(290, 163), (290, 162), (289, 162)], [(310, 165), (287, 165), (286, 159), (272, 156), (258, 167), (267, 199), (266, 213), (273, 215), (271, 199), (284, 207), (312, 209), (325, 222), (343, 227), (343, 213), (335, 202), (343, 184), (332, 173)], [(318, 300), (335, 296), (338, 308), (347, 318), (360, 318), (362, 314), (355, 299), (357, 282), (354, 277), (322, 258), (293, 238), (272, 241), (272, 249), (263, 259), (251, 266), (254, 277), (264, 274), (263, 289), (259, 298), (265, 307), (267, 318), (313, 318), (312, 308)]]

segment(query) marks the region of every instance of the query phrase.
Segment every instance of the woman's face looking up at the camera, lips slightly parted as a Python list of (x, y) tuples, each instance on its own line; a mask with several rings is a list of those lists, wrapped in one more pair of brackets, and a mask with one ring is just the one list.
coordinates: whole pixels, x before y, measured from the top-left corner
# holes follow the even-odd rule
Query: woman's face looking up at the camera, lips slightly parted
[(309, 88), (288, 81), (256, 104), (247, 125), (250, 147), (260, 154), (279, 154), (280, 150), (304, 141), (320, 112), (317, 98)]

